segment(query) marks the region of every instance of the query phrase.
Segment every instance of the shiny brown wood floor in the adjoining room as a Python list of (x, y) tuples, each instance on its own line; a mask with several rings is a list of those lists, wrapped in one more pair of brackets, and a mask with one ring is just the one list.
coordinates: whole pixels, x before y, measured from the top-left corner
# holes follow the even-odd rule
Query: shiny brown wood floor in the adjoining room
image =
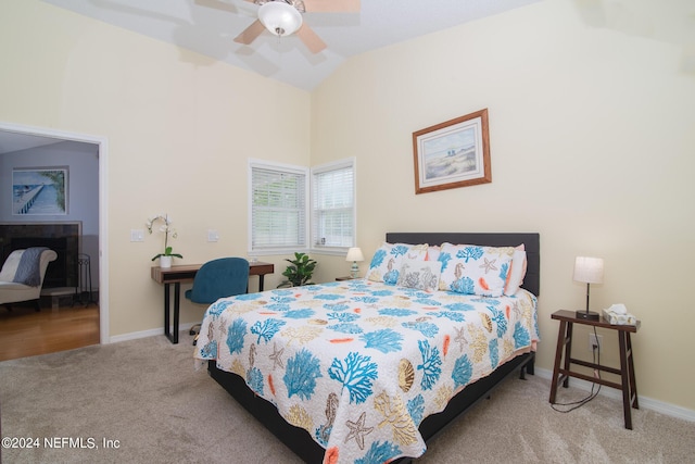
[(99, 343), (99, 306), (75, 304), (41, 311), (0, 306), (0, 361), (53, 353)]

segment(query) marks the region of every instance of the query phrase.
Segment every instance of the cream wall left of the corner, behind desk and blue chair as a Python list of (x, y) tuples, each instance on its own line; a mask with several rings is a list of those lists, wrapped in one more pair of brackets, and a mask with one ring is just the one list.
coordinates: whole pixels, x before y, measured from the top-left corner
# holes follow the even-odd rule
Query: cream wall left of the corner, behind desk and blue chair
[[(109, 142), (112, 337), (163, 325), (150, 279), (163, 237), (134, 243), (130, 229), (168, 212), (182, 263), (245, 256), (248, 158), (309, 163), (309, 95), (275, 80), (36, 0), (0, 4), (0, 121)], [(184, 301), (181, 322), (203, 312)]]

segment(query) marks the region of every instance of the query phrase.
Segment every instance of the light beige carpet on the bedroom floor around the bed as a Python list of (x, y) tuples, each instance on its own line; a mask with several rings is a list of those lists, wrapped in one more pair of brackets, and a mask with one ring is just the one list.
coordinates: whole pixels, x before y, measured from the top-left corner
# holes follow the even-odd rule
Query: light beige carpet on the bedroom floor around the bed
[[(205, 371), (181, 342), (150, 337), (0, 362), (2, 437), (39, 439), (2, 449), (5, 463), (299, 463)], [(509, 378), (490, 400), (429, 444), (418, 463), (685, 463), (695, 424), (598, 397), (569, 414), (551, 409), (548, 380)], [(561, 389), (559, 401), (579, 399)], [(73, 439), (87, 448), (47, 449)], [(90, 441), (92, 439), (93, 441)], [(113, 447), (104, 448), (103, 440)], [(117, 442), (116, 442), (117, 440)], [(93, 448), (92, 448), (93, 444)]]

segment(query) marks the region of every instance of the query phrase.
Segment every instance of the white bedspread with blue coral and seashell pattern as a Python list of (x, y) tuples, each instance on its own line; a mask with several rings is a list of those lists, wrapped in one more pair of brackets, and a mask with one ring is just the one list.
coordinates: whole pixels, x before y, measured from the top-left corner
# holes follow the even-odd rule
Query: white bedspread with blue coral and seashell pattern
[(222, 299), (200, 360), (243, 377), (326, 449), (325, 463), (419, 456), (420, 422), (538, 340), (536, 298), (424, 292), (365, 279)]

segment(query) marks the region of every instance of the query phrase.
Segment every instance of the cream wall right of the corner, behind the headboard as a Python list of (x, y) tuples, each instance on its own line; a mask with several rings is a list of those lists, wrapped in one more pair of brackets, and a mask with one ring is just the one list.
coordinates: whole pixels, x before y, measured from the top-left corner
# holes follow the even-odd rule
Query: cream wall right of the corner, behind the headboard
[[(628, 29), (629, 3), (611, 20)], [(592, 305), (622, 302), (642, 321), (640, 394), (695, 410), (695, 70), (683, 70), (683, 43), (655, 37), (672, 39), (686, 17), (650, 3), (660, 10), (633, 17), (653, 21), (650, 35), (593, 27), (574, 2), (545, 1), (356, 57), (312, 95), (312, 162), (357, 156), (366, 255), (386, 231), (539, 231), (546, 369), (551, 314), (585, 304), (574, 256), (604, 258)], [(413, 131), (483, 108), (492, 184), (416, 196)], [(602, 360), (617, 363), (616, 337), (604, 335)]]

